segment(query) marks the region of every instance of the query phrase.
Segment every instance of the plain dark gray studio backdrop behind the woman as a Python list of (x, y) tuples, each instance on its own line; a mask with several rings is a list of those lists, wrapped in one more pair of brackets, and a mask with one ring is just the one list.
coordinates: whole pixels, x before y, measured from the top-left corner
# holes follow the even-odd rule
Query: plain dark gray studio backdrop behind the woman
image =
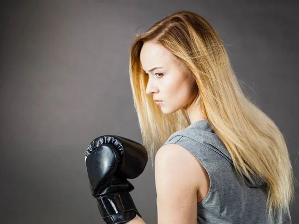
[[(174, 10), (196, 12), (217, 30), (244, 88), (284, 134), (299, 179), (298, 1), (1, 2), (0, 223), (103, 223), (86, 147), (104, 134), (142, 143), (129, 49), (136, 31)], [(144, 220), (157, 223), (150, 163), (131, 183)], [(298, 196), (293, 223), (296, 211)]]

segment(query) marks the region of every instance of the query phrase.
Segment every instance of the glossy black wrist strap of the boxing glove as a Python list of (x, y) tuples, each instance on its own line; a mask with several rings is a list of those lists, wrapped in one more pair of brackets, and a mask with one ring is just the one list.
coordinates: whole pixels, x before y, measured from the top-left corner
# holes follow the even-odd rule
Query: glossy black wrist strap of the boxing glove
[(133, 220), (136, 215), (141, 217), (129, 192), (103, 195), (96, 201), (106, 224), (123, 224)]

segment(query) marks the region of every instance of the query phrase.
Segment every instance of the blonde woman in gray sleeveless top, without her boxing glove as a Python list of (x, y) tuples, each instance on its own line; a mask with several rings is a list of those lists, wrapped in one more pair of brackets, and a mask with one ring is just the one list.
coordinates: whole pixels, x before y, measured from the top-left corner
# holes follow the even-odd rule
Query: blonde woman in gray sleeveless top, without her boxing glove
[(284, 137), (243, 94), (208, 21), (175, 11), (138, 35), (130, 81), (155, 158), (158, 224), (291, 223)]

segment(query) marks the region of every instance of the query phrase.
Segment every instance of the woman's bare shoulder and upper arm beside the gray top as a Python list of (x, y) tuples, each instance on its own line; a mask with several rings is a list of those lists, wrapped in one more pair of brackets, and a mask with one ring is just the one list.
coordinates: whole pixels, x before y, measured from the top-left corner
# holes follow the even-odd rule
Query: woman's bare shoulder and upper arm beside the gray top
[[(182, 146), (165, 144), (154, 161), (158, 224), (196, 223), (201, 169), (198, 160)], [(195, 178), (194, 178), (195, 177)]]

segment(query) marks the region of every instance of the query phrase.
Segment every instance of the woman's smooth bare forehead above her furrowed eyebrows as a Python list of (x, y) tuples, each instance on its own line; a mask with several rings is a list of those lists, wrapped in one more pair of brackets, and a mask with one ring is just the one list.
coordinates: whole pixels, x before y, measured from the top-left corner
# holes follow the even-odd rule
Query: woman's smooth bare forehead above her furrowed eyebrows
[(140, 60), (144, 70), (153, 67), (164, 67), (175, 62), (174, 55), (160, 44), (145, 42), (141, 52)]

